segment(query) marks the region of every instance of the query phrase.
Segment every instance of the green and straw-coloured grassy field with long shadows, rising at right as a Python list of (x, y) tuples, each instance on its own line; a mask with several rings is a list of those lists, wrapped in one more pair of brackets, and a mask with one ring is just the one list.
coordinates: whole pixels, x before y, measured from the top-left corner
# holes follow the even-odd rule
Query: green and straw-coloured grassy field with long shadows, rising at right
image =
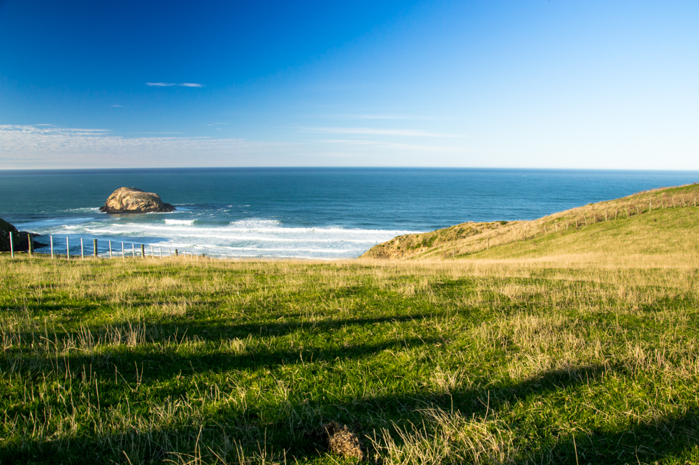
[(0, 462), (699, 463), (697, 210), (454, 260), (0, 255)]

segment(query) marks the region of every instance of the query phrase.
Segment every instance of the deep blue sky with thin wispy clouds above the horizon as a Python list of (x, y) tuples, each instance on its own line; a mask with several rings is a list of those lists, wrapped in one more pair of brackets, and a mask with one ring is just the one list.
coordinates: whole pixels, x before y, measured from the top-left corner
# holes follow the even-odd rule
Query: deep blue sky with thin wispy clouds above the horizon
[(699, 169), (696, 1), (0, 0), (0, 169)]

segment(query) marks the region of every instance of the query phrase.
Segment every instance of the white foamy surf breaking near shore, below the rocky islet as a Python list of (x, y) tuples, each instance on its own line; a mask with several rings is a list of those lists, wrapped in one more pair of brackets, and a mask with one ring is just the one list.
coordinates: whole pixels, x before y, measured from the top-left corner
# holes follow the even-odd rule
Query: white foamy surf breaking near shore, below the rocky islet
[[(101, 249), (113, 241), (145, 243), (147, 250), (167, 253), (188, 250), (213, 257), (286, 257), (342, 259), (358, 257), (373, 245), (414, 231), (343, 229), (339, 227), (285, 227), (279, 220), (246, 218), (222, 224), (201, 219), (132, 220), (93, 218), (79, 224), (43, 224), (37, 232), (79, 238), (97, 238)], [(116, 243), (116, 244), (114, 244)], [(136, 245), (136, 248), (138, 248)], [(130, 247), (127, 245), (127, 249)], [(74, 252), (73, 252), (74, 253)], [(104, 253), (104, 252), (103, 252)]]

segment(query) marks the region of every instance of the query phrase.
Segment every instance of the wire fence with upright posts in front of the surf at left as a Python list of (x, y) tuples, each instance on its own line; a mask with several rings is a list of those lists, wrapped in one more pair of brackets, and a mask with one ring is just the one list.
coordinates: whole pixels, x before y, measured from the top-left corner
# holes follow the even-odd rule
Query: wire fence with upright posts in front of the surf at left
[[(18, 248), (17, 247), (17, 238), (15, 238), (15, 233), (10, 232), (10, 256), (12, 258), (15, 257), (15, 253), (20, 252), (20, 249), (22, 252), (24, 252), (24, 248)], [(175, 257), (184, 257), (185, 259), (189, 258), (199, 258), (199, 257), (204, 257), (204, 255), (197, 254), (195, 252), (192, 252), (191, 250), (185, 250), (185, 249), (178, 249), (178, 248), (173, 248), (173, 247), (167, 247), (163, 248), (161, 245), (159, 245), (157, 248), (154, 245), (149, 245), (145, 243), (134, 243), (134, 242), (120, 242), (120, 241), (110, 241), (106, 239), (101, 239), (98, 241), (98, 239), (92, 238), (92, 246), (89, 244), (89, 239), (85, 241), (85, 238), (75, 238), (73, 237), (73, 244), (71, 244), (71, 237), (70, 236), (65, 236), (66, 241), (65, 243), (63, 242), (62, 238), (63, 236), (57, 236), (57, 238), (60, 238), (57, 241), (54, 241), (54, 236), (48, 236), (50, 243), (48, 244), (48, 247), (50, 247), (51, 250), (51, 258), (52, 259), (85, 259), (89, 257), (93, 258), (121, 258), (121, 259), (127, 259), (127, 258), (146, 258), (146, 257), (152, 257), (152, 258), (175, 258)], [(80, 241), (80, 249), (78, 252), (78, 244), (76, 243), (77, 241)], [(106, 246), (105, 246), (106, 243)], [(101, 246), (101, 250), (100, 250)], [(44, 246), (42, 245), (42, 248)], [(72, 255), (71, 255), (71, 248), (72, 250)], [(150, 248), (150, 250), (149, 250)], [(150, 254), (149, 254), (150, 252)], [(27, 253), (29, 255), (33, 256), (34, 255), (34, 239), (31, 237), (30, 234), (27, 234)]]

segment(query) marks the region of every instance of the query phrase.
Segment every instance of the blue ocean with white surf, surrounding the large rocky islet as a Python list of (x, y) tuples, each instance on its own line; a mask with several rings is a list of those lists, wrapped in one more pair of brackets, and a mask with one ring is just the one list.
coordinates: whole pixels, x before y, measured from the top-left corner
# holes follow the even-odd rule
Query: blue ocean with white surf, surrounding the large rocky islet
[[(55, 236), (148, 252), (212, 257), (358, 257), (401, 234), (468, 221), (531, 220), (586, 203), (699, 181), (697, 171), (540, 169), (85, 169), (0, 171), (0, 218)], [(117, 188), (138, 187), (173, 213), (107, 215)], [(48, 238), (45, 239), (48, 242)], [(37, 249), (38, 252), (46, 250)]]

